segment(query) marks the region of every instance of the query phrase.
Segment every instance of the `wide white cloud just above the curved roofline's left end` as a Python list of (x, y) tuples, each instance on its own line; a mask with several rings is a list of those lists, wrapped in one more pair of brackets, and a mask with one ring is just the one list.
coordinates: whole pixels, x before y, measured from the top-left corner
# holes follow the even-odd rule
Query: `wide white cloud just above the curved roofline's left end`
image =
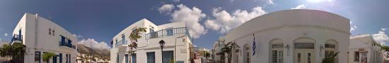
[(260, 15), (264, 15), (265, 13), (266, 11), (263, 10), (260, 6), (252, 8), (251, 12), (248, 10), (236, 10), (232, 13), (232, 15), (226, 10), (221, 10), (221, 8), (214, 8), (212, 11), (212, 16), (215, 19), (206, 20), (204, 25), (207, 27), (207, 29), (226, 33), (231, 29), (243, 24), (244, 22), (247, 22), (248, 20), (256, 18)]

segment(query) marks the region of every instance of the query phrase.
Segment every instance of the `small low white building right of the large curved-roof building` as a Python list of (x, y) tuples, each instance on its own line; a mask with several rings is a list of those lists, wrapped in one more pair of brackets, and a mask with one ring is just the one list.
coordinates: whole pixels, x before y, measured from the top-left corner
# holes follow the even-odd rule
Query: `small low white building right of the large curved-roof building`
[(371, 34), (350, 38), (349, 63), (383, 63), (384, 52)]

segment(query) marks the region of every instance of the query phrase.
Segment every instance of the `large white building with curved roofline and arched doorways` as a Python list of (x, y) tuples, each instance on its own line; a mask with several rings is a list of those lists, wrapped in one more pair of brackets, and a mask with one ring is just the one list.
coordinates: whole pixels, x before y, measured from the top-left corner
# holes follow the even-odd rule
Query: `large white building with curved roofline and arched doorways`
[(281, 10), (236, 27), (226, 43), (240, 46), (232, 63), (321, 63), (327, 52), (339, 52), (336, 62), (347, 63), (349, 24), (321, 10)]

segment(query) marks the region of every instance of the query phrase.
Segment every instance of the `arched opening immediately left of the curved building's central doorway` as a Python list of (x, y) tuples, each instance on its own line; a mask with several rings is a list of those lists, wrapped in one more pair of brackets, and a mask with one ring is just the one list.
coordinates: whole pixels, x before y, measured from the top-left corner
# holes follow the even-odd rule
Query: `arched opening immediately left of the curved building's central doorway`
[(270, 41), (270, 63), (284, 63), (284, 41), (274, 38)]

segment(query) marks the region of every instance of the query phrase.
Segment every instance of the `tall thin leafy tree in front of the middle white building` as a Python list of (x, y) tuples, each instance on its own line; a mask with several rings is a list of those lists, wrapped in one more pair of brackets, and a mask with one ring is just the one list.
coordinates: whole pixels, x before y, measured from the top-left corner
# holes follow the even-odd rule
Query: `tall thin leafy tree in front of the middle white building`
[(138, 38), (141, 38), (141, 32), (146, 32), (146, 28), (143, 28), (143, 27), (139, 27), (137, 29), (134, 29), (131, 34), (129, 34), (129, 40), (131, 41), (131, 43), (128, 45), (129, 47), (129, 55), (132, 55), (134, 54), (134, 48), (137, 49), (138, 48)]

